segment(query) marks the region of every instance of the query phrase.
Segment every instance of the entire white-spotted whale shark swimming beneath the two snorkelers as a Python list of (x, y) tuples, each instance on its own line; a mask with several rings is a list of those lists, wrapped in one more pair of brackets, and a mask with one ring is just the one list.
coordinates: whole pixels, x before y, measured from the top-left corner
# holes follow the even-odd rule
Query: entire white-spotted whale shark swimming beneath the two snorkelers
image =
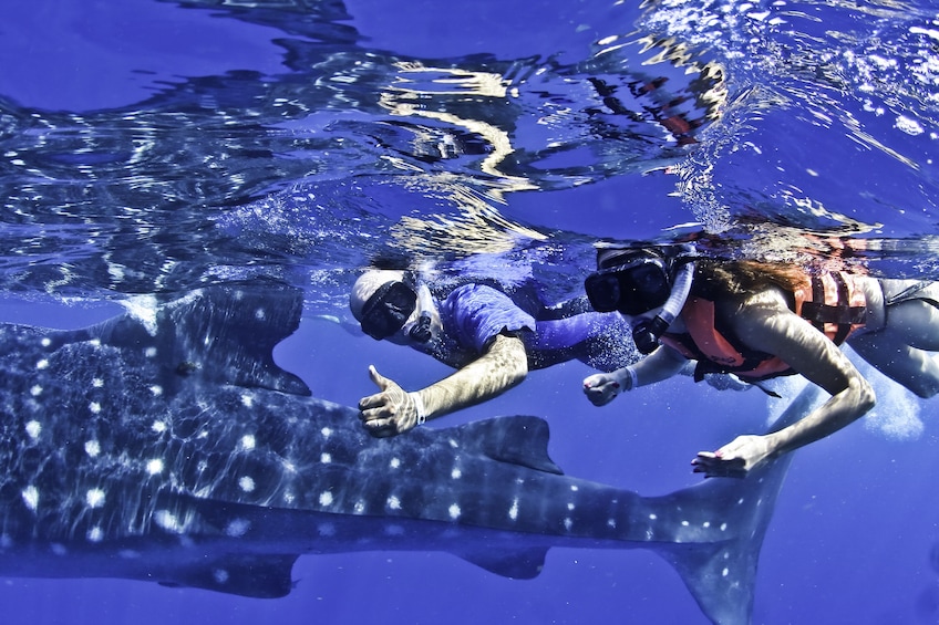
[(371, 438), (274, 363), (301, 306), (226, 287), (81, 331), (0, 326), (0, 575), (276, 597), (305, 553), (442, 550), (532, 577), (550, 546), (644, 546), (712, 621), (749, 621), (787, 460), (643, 498), (561, 475), (535, 417)]

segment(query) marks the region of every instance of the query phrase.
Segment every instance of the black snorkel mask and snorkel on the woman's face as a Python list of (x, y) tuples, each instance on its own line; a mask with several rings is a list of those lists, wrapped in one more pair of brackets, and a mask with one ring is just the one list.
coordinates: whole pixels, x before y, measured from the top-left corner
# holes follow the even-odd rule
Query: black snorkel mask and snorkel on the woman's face
[(584, 288), (597, 312), (619, 311), (639, 316), (661, 308), (652, 319), (642, 319), (632, 327), (632, 340), (642, 354), (651, 354), (659, 338), (681, 312), (691, 291), (693, 250), (665, 254), (653, 249), (597, 250), (598, 271), (587, 277)]

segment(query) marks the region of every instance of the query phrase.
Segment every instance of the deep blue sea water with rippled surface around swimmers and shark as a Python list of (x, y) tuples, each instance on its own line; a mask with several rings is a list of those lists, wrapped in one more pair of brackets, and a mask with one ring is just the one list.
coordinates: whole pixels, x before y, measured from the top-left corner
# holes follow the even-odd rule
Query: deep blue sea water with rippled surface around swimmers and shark
[[(598, 240), (694, 237), (939, 278), (926, 0), (33, 0), (3, 14), (3, 320), (78, 327), (134, 295), (275, 278), (307, 293), (278, 362), (354, 405), (369, 364), (409, 388), (446, 373), (350, 323), (348, 288), (376, 258), (444, 281), (533, 277), (557, 300)], [(658, 494), (775, 409), (681, 378), (598, 410), (587, 373), (536, 372), (442, 425), (538, 415), (567, 473)], [(939, 622), (939, 408), (875, 386), (875, 414), (798, 452), (754, 622)], [(0, 605), (49, 623), (703, 622), (642, 550), (553, 550), (532, 581), (422, 552), (305, 556), (295, 577), (275, 601), (13, 579)]]

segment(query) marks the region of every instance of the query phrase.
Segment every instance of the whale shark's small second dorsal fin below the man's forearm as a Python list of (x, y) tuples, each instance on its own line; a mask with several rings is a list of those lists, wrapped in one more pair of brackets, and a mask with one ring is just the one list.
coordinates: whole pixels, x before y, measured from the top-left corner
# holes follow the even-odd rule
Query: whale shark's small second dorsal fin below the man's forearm
[(541, 418), (497, 417), (470, 423), (458, 429), (463, 433), (464, 440), (472, 441), (472, 445), (493, 460), (564, 475), (560, 467), (548, 457), (550, 433), (547, 421)]

